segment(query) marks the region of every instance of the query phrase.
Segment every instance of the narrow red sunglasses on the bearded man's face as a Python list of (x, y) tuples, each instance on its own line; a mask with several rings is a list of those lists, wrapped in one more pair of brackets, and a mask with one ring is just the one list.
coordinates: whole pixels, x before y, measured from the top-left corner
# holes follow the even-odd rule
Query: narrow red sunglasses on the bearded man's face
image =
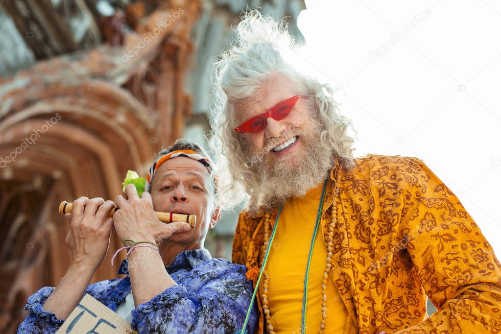
[(296, 105), (299, 99), (304, 98), (307, 99), (307, 96), (304, 95), (295, 95), (292, 98), (289, 98), (285, 101), (280, 102), (276, 106), (267, 110), (263, 114), (250, 118), (237, 126), (235, 131), (238, 133), (254, 133), (260, 132), (264, 128), (266, 128), (268, 117), (273, 118), (274, 120), (280, 121), (289, 115), (292, 108)]

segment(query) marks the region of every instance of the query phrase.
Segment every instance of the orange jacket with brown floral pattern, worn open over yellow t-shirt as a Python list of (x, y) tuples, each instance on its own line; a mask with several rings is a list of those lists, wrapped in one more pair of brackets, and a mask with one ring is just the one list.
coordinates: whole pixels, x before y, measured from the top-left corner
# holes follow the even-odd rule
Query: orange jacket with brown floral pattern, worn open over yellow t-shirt
[[(501, 265), (457, 197), (417, 158), (355, 164), (332, 168), (321, 222), (327, 246), (337, 184), (332, 279), (359, 332), (501, 332)], [(264, 220), (241, 212), (233, 240), (233, 261), (254, 285)], [(438, 309), (428, 318), (426, 295)]]

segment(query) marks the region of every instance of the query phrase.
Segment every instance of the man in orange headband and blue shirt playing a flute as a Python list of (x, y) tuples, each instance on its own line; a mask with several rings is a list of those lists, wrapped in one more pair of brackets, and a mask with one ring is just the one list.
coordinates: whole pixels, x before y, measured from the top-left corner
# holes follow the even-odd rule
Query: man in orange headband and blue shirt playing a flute
[[(113, 218), (105, 217), (114, 207), (111, 201), (74, 201), (66, 239), (73, 262), (56, 288), (44, 287), (28, 298), (25, 309), (31, 312), (18, 332), (55, 332), (84, 293), (131, 321), (140, 333), (242, 328), (253, 293), (245, 266), (213, 259), (203, 248), (208, 229), (220, 218), (211, 168), (200, 147), (178, 140), (158, 153), (141, 198), (132, 184), (117, 196)], [(195, 227), (165, 224), (154, 211), (196, 215)], [(88, 285), (107, 253), (113, 226), (129, 246), (119, 270), (127, 277)], [(253, 312), (247, 331), (255, 322)]]

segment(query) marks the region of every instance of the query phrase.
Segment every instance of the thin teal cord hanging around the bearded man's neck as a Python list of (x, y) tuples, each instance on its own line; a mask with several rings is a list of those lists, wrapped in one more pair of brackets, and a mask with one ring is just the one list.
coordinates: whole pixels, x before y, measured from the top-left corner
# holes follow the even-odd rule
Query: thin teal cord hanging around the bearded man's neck
[[(307, 266), (306, 266), (304, 288), (303, 288), (303, 308), (302, 308), (302, 312), (301, 312), (301, 333), (304, 333), (306, 330), (306, 308), (307, 308), (307, 304), (308, 304), (308, 282), (309, 282), (309, 278), (310, 278), (310, 265), (311, 265), (312, 255), (313, 255), (313, 248), (315, 247), (315, 239), (317, 237), (319, 226), (320, 226), (320, 220), (322, 218), (322, 206), (323, 206), (324, 199), (325, 199), (326, 187), (327, 187), (327, 180), (325, 180), (324, 187), (322, 188), (322, 195), (320, 198), (320, 204), (319, 204), (318, 211), (317, 211), (317, 220), (315, 222), (315, 228), (313, 230), (313, 236), (312, 236), (312, 241), (311, 241), (311, 245), (310, 245), (310, 252), (308, 254), (308, 262), (307, 262)], [(273, 226), (273, 231), (272, 231), (272, 234), (270, 237), (270, 241), (268, 242), (268, 245), (266, 247), (267, 249), (265, 252), (265, 256), (263, 258), (263, 265), (261, 266), (258, 280), (256, 282), (256, 287), (254, 288), (252, 300), (250, 301), (249, 307), (247, 309), (247, 314), (245, 316), (245, 320), (243, 322), (242, 329), (237, 331), (237, 333), (240, 333), (240, 334), (245, 333), (244, 330), (245, 330), (245, 327), (247, 325), (248, 318), (250, 316), (250, 311), (252, 310), (252, 307), (254, 304), (254, 298), (256, 297), (256, 293), (258, 292), (259, 285), (261, 282), (261, 277), (263, 276), (263, 272), (265, 270), (266, 263), (268, 262), (268, 255), (270, 253), (270, 248), (271, 248), (272, 242), (275, 239), (275, 233), (277, 231), (278, 221), (279, 221), (279, 217), (280, 217), (281, 212), (282, 212), (282, 206), (280, 206), (278, 214), (277, 214), (277, 218), (275, 219), (275, 225)], [(266, 226), (265, 226), (265, 229), (266, 229)], [(265, 245), (266, 245), (266, 242), (267, 242), (267, 240), (265, 238)], [(266, 275), (268, 276), (268, 274), (266, 274)], [(266, 284), (266, 281), (265, 281), (265, 284)], [(265, 290), (267, 290), (267, 284), (265, 286)], [(265, 313), (265, 314), (268, 316), (269, 312)], [(267, 323), (268, 323), (268, 320), (267, 320)], [(273, 332), (273, 326), (271, 323), (268, 324), (268, 329), (270, 330), (270, 332)]]

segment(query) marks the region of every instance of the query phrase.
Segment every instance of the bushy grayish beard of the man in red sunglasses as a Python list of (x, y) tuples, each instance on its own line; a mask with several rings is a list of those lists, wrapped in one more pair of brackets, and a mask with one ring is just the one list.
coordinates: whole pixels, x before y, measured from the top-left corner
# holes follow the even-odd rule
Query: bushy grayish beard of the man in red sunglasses
[(268, 153), (262, 162), (253, 166), (261, 186), (257, 207), (251, 210), (269, 211), (288, 198), (303, 197), (328, 177), (335, 156), (319, 139), (322, 129), (318, 120), (312, 120), (312, 128), (310, 134), (297, 133), (302, 141), (299, 150), (280, 159)]

